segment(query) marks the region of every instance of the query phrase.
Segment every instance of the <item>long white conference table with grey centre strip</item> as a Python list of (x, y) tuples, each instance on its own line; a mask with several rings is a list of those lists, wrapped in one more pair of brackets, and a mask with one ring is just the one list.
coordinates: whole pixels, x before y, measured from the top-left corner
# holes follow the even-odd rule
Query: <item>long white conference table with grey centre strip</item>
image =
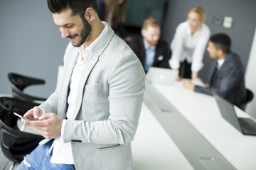
[[(212, 157), (215, 159), (214, 162), (204, 162), (203, 167), (205, 169), (208, 169), (207, 164), (209, 162), (211, 167), (215, 166), (218, 169), (227, 169), (225, 167), (256, 169), (256, 136), (242, 135), (223, 119), (213, 96), (184, 89), (181, 82), (176, 82), (173, 86), (164, 84), (152, 84), (151, 86), (161, 96), (160, 99), (164, 98), (171, 104), (173, 111), (157, 113), (157, 110), (152, 106), (154, 102), (145, 102), (144, 98), (139, 128), (132, 142), (135, 170), (204, 169), (200, 165), (195, 165), (198, 162), (195, 163), (193, 160), (197, 159), (193, 158), (193, 153), (191, 157), (191, 152), (203, 149), (204, 144), (206, 144), (205, 148), (210, 148), (206, 154), (214, 152), (213, 155), (216, 155), (217, 153), (217, 156)], [(146, 90), (145, 95), (147, 93), (150, 93), (150, 89)], [(149, 96), (147, 98), (150, 100)], [(239, 108), (235, 107), (235, 111), (240, 117), (250, 117)], [(175, 114), (180, 117), (175, 117)], [(187, 127), (194, 128), (191, 131), (192, 136), (182, 137), (182, 135), (175, 135), (177, 133), (171, 131), (171, 128), (174, 128), (171, 125), (179, 121), (175, 118), (183, 118), (181, 122), (187, 121), (191, 125), (184, 125), (183, 129), (181, 128), (183, 126), (180, 125), (181, 134), (191, 130), (186, 129)], [(194, 137), (193, 132), (196, 132)], [(196, 145), (194, 143), (196, 138), (200, 141), (202, 138), (203, 145)], [(188, 147), (179, 145), (177, 141), (187, 143)], [(194, 148), (191, 149), (190, 146)], [(186, 153), (186, 150), (190, 150), (189, 153)]]

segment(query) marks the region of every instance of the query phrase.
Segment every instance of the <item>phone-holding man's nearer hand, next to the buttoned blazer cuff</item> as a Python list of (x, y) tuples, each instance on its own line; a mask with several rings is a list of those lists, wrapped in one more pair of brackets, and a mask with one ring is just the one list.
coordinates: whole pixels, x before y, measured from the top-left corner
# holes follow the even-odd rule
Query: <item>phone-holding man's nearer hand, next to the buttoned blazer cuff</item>
[(43, 137), (46, 137), (46, 139), (60, 137), (61, 135), (63, 120), (55, 113), (44, 113), (38, 119), (33, 119), (32, 121), (21, 119), (21, 122), (41, 134)]

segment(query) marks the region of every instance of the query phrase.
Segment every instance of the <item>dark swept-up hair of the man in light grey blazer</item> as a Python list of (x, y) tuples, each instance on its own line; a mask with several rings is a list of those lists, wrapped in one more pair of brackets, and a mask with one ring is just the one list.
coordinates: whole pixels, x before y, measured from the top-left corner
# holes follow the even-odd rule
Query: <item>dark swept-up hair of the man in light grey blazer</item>
[(61, 13), (70, 8), (73, 16), (79, 15), (82, 17), (89, 7), (97, 12), (96, 0), (47, 0), (47, 4), (51, 13)]

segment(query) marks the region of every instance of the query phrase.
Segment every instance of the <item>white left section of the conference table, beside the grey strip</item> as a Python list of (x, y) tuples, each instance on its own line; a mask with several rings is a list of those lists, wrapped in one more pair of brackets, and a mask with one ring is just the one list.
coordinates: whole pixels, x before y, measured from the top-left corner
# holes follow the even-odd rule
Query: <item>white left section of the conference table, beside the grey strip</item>
[(144, 103), (132, 157), (134, 170), (193, 169)]

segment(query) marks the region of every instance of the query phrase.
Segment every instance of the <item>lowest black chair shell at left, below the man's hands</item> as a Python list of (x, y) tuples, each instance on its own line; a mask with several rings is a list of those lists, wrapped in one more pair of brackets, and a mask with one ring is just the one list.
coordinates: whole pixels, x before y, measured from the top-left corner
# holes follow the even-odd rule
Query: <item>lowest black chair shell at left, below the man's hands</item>
[(0, 120), (0, 147), (11, 162), (21, 162), (43, 140), (41, 135), (10, 128)]

